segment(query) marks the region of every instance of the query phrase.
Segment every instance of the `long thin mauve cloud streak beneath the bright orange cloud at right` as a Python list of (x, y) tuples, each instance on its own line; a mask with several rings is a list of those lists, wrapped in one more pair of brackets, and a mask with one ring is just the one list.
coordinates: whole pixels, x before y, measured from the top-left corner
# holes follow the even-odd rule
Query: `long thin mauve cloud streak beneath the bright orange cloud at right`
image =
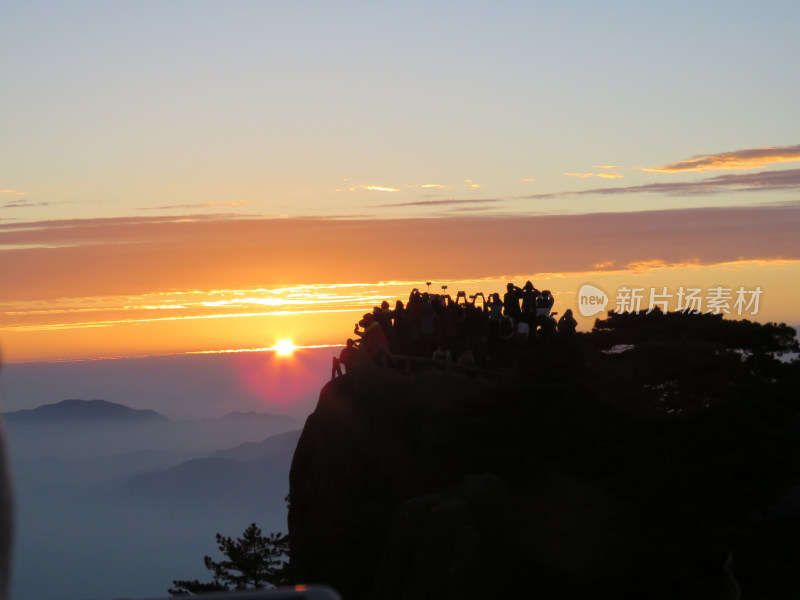
[(648, 183), (627, 187), (594, 188), (591, 190), (556, 192), (552, 194), (534, 194), (526, 196), (530, 199), (556, 198), (558, 196), (585, 196), (591, 194), (672, 194), (681, 196), (699, 196), (718, 194), (720, 192), (761, 192), (767, 190), (793, 190), (800, 188), (800, 169), (783, 171), (761, 171), (759, 173), (717, 175), (698, 181), (679, 181)]

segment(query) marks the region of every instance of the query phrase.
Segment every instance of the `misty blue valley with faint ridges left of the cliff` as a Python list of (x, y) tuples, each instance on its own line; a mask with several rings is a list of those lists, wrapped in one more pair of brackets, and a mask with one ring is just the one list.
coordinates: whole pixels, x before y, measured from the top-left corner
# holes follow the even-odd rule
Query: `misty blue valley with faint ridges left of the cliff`
[(294, 419), (179, 421), (83, 400), (4, 417), (18, 600), (164, 595), (172, 579), (205, 577), (216, 532), (286, 531)]

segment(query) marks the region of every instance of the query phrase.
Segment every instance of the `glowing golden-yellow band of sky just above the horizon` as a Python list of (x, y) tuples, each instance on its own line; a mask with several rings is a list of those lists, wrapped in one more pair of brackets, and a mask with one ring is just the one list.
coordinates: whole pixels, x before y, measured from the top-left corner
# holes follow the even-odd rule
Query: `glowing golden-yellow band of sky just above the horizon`
[[(793, 301), (793, 290), (786, 285), (786, 281), (800, 280), (800, 259), (732, 261), (713, 265), (643, 261), (632, 263), (623, 269), (435, 281), (432, 282), (431, 292), (442, 292), (441, 286), (446, 285), (447, 293), (453, 296), (459, 290), (468, 295), (477, 292), (483, 292), (487, 296), (493, 292), (502, 295), (508, 281), (522, 285), (529, 279), (539, 289), (552, 291), (556, 297), (556, 312), (563, 314), (567, 308), (573, 309), (581, 330), (590, 329), (594, 321), (594, 317), (581, 317), (577, 311), (576, 294), (584, 283), (599, 285), (609, 293), (626, 285), (676, 289), (679, 286), (708, 289), (719, 284), (730, 287), (758, 285), (764, 288), (759, 314), (739, 317), (731, 314), (730, 318), (800, 324), (800, 311)], [(8, 362), (57, 358), (90, 360), (102, 356), (269, 352), (275, 351), (276, 344), (282, 339), (291, 339), (296, 350), (336, 348), (344, 345), (344, 340), (352, 335), (352, 327), (363, 313), (371, 311), (383, 300), (389, 301), (392, 306), (396, 300), (405, 303), (412, 287), (423, 291), (426, 289), (425, 282), (391, 281), (207, 292), (191, 290), (186, 293), (173, 291), (163, 295), (166, 302), (163, 307), (150, 306), (144, 311), (137, 311), (106, 304), (102, 308), (94, 309), (100, 316), (104, 311), (127, 314), (127, 318), (115, 320), (25, 324), (26, 317), (41, 317), (42, 315), (36, 313), (42, 311), (33, 311), (33, 315), (26, 315), (24, 311), (10, 311), (21, 322), (0, 327), (0, 334), (6, 342)], [(315, 290), (325, 293), (313, 298)], [(331, 290), (336, 290), (337, 293), (333, 294)], [(258, 294), (263, 297), (258, 297)], [(192, 296), (195, 301), (184, 302), (182, 298), (185, 295)], [(220, 300), (220, 296), (224, 299)], [(251, 311), (253, 305), (263, 305), (264, 297), (279, 299), (280, 303), (274, 310)], [(206, 302), (205, 298), (217, 300)], [(175, 299), (178, 300), (178, 305), (173, 303)], [(108, 303), (109, 298), (104, 298), (104, 301)], [(317, 308), (309, 309), (309, 305), (316, 305)], [(220, 312), (223, 309), (229, 312)], [(180, 311), (184, 314), (166, 317), (141, 316), (142, 313), (163, 310)], [(211, 312), (197, 314), (203, 310)], [(69, 310), (44, 313), (48, 318), (71, 316)], [(85, 312), (79, 314), (86, 315)], [(220, 324), (224, 326), (220, 327)], [(132, 337), (131, 332), (137, 330), (139, 337)], [(265, 338), (272, 338), (273, 345), (265, 345)], [(164, 348), (158, 342), (159, 339), (169, 340), (172, 345)], [(145, 346), (141, 345), (142, 340), (147, 341)], [(42, 352), (38, 347), (42, 345), (48, 352)], [(94, 354), (91, 348), (95, 348)], [(147, 351), (147, 348), (150, 350)]]

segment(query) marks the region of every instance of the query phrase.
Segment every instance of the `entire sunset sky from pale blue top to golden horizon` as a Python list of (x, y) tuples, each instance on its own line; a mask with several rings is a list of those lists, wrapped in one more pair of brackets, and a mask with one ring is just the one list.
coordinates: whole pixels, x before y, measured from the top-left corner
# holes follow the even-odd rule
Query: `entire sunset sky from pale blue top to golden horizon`
[(335, 346), (426, 281), (800, 325), (796, 2), (2, 12), (6, 362)]

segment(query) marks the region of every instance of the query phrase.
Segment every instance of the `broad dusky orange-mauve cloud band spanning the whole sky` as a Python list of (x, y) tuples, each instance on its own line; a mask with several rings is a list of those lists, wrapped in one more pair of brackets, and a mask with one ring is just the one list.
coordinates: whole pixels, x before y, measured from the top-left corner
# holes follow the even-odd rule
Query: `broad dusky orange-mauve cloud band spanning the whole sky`
[(529, 273), (530, 257), (541, 255), (541, 248), (553, 251), (546, 265), (533, 268), (552, 272), (608, 262), (797, 259), (797, 231), (798, 203), (508, 218), (15, 222), (0, 224), (0, 304), (303, 282), (463, 280)]

